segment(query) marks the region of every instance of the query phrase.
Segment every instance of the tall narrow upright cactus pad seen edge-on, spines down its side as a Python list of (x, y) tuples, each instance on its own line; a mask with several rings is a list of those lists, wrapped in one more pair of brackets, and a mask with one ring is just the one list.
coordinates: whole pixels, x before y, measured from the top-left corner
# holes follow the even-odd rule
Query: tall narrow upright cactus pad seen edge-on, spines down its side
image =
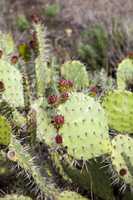
[(44, 26), (39, 23), (34, 24), (34, 27), (39, 45), (39, 55), (35, 60), (37, 95), (42, 97), (51, 81), (51, 69), (47, 65), (49, 59), (49, 45), (47, 44), (46, 29)]

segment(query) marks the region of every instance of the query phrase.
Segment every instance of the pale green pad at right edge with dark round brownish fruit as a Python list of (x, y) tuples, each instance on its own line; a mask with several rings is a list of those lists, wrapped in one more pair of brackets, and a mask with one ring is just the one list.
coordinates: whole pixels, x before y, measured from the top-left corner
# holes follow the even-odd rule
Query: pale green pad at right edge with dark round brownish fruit
[(111, 160), (118, 177), (133, 186), (133, 138), (128, 135), (114, 137)]

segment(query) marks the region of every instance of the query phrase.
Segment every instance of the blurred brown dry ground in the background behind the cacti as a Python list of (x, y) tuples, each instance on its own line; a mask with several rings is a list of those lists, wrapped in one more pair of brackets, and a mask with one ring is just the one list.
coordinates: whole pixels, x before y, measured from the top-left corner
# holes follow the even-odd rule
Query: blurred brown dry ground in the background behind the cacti
[[(61, 12), (54, 18), (44, 15), (43, 9), (51, 3), (59, 3)], [(94, 23), (104, 23), (109, 29), (112, 18), (132, 25), (132, 0), (0, 0), (0, 29), (11, 30), (15, 40), (25, 37), (16, 27), (16, 18), (25, 14), (29, 20), (33, 13), (42, 15), (53, 42), (55, 55), (63, 62), (76, 57), (76, 45), (80, 32)], [(71, 36), (66, 33), (71, 30)]]

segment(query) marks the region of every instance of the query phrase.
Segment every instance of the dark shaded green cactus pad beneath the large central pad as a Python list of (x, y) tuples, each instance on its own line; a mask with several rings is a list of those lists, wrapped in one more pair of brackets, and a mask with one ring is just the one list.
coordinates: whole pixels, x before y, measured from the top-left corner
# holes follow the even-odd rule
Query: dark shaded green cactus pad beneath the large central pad
[[(52, 164), (61, 177), (69, 182), (76, 183), (80, 188), (87, 191), (93, 190), (98, 197), (106, 200), (114, 200), (113, 188), (110, 184), (110, 174), (107, 173), (103, 158), (89, 160), (83, 167), (75, 166), (70, 156), (62, 159), (62, 155), (57, 152), (51, 154)], [(104, 178), (103, 178), (104, 177)]]

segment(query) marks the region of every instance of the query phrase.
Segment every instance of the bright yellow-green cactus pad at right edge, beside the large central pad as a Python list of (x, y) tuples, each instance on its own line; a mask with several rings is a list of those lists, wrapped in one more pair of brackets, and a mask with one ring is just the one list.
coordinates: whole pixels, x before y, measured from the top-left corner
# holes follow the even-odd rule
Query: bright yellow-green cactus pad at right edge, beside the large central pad
[(110, 128), (121, 133), (133, 133), (133, 93), (114, 90), (103, 98)]

